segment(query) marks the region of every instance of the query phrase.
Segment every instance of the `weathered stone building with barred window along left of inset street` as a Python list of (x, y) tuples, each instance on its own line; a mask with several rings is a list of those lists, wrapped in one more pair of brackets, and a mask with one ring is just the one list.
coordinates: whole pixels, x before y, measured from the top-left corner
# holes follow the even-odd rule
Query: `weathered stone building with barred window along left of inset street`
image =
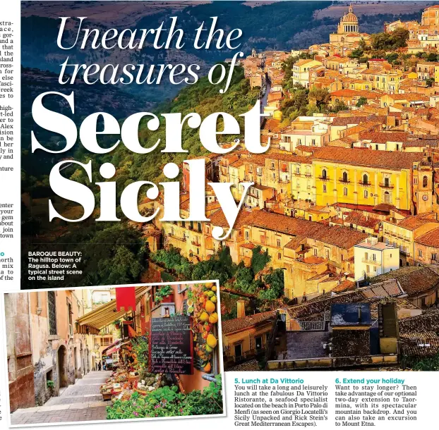
[(11, 412), (44, 405), (90, 371), (91, 351), (73, 321), (88, 290), (5, 295)]

